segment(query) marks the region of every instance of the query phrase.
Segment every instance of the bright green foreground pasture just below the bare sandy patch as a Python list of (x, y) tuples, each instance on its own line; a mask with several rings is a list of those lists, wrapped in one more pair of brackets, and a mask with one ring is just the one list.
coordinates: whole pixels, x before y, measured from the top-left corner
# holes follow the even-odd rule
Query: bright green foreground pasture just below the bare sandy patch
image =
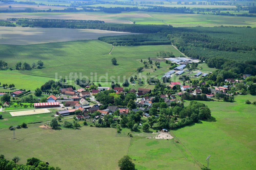
[(174, 140), (132, 138), (128, 154), (137, 169), (200, 169)]

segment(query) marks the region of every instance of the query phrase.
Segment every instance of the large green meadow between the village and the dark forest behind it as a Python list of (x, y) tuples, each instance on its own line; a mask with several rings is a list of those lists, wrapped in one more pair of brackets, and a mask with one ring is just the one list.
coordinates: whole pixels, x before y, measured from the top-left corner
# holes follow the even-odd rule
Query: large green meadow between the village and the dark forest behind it
[[(7, 77), (7, 79), (5, 79), (7, 81), (4, 83), (8, 84), (13, 81), (12, 83), (16, 84), (17, 88), (19, 88), (17, 85), (18, 79), (15, 79), (15, 77), (18, 77), (19, 75), (24, 76), (24, 78), (27, 79), (30, 77), (32, 78), (32, 76), (29, 75), (36, 76), (38, 80), (42, 79), (36, 82), (35, 79), (29, 79), (29, 81), (31, 81), (29, 86), (39, 87), (50, 78), (55, 78), (55, 74), (58, 76), (69, 76), (70, 72), (77, 73), (79, 77), (79, 74), (81, 73), (81, 76), (88, 76), (88, 78), (90, 78), (91, 72), (93, 73), (93, 78), (95, 78), (97, 74), (97, 79), (93, 79), (92, 81), (97, 81), (100, 76), (106, 76), (106, 73), (108, 73), (107, 81), (112, 81), (110, 80), (110, 76), (115, 76), (115, 80), (118, 79), (117, 76), (120, 76), (120, 82), (123, 82), (122, 76), (129, 78), (130, 75), (136, 72), (138, 67), (143, 66), (143, 63), (139, 61), (140, 59), (155, 57), (156, 52), (159, 51), (170, 51), (174, 52), (175, 55), (178, 55), (178, 51), (171, 45), (116, 46), (111, 54), (109, 54), (111, 48), (111, 44), (99, 40), (26, 46), (1, 45), (0, 56), (8, 63), (9, 67), (14, 68), (17, 61), (26, 61), (29, 64), (32, 64), (32, 62), (37, 62), (39, 59), (44, 62), (45, 67), (42, 69), (24, 71), (1, 71), (1, 75)], [(118, 61), (117, 66), (114, 66), (111, 63), (111, 58), (113, 57)], [(59, 80), (59, 77), (57, 77), (57, 80)], [(106, 81), (105, 78), (102, 78), (101, 80)], [(26, 81), (23, 82), (27, 83)], [(38, 85), (35, 86), (32, 82), (35, 82)]]

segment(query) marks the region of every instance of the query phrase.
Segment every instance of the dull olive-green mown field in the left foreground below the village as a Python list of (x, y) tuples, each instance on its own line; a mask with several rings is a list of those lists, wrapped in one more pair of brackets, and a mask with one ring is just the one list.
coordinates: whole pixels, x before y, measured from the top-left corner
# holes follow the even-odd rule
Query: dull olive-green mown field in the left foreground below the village
[(79, 130), (51, 130), (33, 125), (15, 132), (16, 139), (12, 139), (12, 131), (1, 130), (1, 154), (6, 159), (17, 155), (19, 163), (24, 164), (27, 158), (37, 157), (63, 170), (118, 169), (118, 160), (127, 154), (131, 140), (115, 137), (113, 128), (85, 126)]

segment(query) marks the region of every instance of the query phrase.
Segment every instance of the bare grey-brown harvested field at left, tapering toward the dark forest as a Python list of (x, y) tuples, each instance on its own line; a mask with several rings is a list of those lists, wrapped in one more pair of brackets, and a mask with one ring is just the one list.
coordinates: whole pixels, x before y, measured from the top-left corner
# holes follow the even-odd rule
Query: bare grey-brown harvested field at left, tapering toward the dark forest
[(0, 44), (28, 45), (50, 42), (93, 40), (104, 36), (134, 34), (93, 29), (0, 27)]

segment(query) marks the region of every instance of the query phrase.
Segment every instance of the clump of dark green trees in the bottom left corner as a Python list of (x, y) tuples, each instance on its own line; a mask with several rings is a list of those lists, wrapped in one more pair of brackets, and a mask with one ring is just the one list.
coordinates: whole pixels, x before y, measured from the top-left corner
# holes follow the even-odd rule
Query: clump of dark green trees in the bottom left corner
[(61, 170), (59, 167), (51, 167), (46, 162), (43, 162), (35, 157), (27, 159), (27, 163), (17, 164), (20, 161), (18, 156), (14, 156), (11, 161), (5, 159), (4, 155), (0, 155), (0, 169), (16, 170), (16, 169), (29, 169), (29, 170)]

